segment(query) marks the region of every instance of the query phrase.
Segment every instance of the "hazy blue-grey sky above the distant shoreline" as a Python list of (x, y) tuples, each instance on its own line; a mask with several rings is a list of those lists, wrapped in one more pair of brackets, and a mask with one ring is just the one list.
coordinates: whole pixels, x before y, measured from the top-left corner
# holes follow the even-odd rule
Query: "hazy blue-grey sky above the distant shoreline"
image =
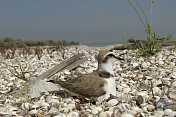
[[(133, 2), (134, 0), (131, 0)], [(138, 0), (150, 16), (150, 0)], [(126, 0), (0, 0), (0, 38), (118, 43), (124, 34), (145, 38), (145, 29)], [(176, 34), (176, 0), (155, 0), (153, 30)], [(111, 26), (119, 38), (113, 35)]]

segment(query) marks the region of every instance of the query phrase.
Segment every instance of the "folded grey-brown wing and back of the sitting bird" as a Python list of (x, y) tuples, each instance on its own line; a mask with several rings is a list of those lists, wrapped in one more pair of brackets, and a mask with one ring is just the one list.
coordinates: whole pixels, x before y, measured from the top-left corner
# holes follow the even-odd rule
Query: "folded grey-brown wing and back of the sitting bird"
[(85, 97), (99, 97), (105, 94), (103, 89), (106, 83), (97, 73), (83, 75), (69, 81), (58, 81), (61, 87)]

